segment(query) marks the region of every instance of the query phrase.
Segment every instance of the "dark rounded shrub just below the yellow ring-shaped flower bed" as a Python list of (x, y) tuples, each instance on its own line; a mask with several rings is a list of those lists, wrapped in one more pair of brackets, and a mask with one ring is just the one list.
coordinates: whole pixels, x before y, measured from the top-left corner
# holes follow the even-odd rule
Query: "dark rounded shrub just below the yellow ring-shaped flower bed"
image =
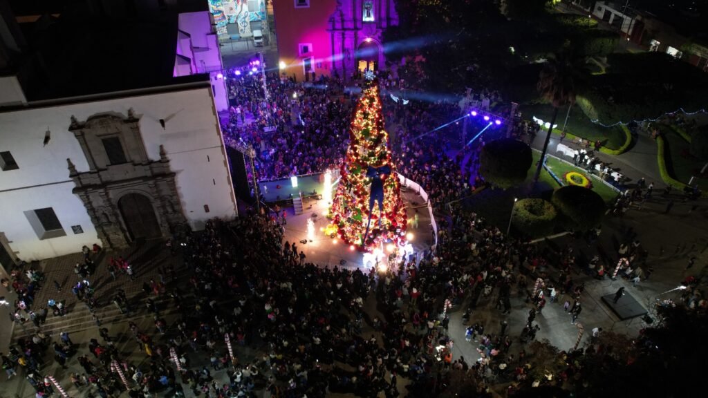
[(605, 214), (605, 201), (595, 191), (581, 186), (564, 186), (553, 193), (551, 202), (561, 213), (567, 229), (587, 231), (597, 227)]

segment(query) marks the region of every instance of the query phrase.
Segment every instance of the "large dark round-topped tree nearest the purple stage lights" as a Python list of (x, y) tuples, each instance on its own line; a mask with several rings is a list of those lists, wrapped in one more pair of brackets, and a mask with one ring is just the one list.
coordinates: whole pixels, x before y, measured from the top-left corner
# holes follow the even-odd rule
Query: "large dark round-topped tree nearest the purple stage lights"
[(525, 142), (503, 138), (484, 145), (479, 173), (499, 188), (511, 188), (523, 183), (532, 162), (531, 148)]

